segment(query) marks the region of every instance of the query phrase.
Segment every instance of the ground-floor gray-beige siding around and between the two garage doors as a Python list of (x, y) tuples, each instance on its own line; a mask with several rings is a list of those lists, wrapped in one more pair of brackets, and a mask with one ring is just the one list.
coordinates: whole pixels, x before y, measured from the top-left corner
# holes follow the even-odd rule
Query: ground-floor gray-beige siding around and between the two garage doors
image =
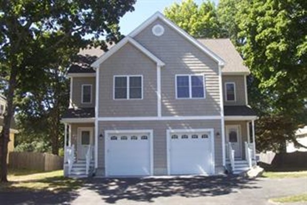
[[(166, 130), (167, 129), (214, 129), (214, 153), (215, 168), (221, 170), (223, 166), (222, 158), (222, 138), (215, 136), (221, 133), (221, 120), (190, 120), (190, 121), (117, 121), (99, 122), (98, 134), (103, 134), (105, 130), (153, 130), (153, 171), (155, 175), (167, 174), (167, 149)], [(104, 161), (104, 139), (98, 140), (98, 168), (105, 168)], [(183, 150), (184, 151), (184, 150)]]

